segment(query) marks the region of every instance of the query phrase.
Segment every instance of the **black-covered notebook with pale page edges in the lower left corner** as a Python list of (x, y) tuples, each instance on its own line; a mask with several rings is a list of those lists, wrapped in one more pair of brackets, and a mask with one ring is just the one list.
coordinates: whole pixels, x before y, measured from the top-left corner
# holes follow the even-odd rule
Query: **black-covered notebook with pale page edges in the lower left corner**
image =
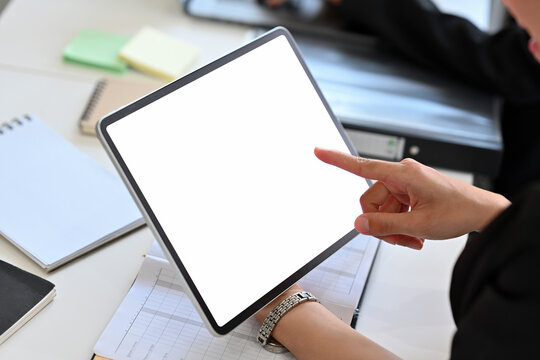
[(0, 344), (45, 307), (54, 284), (0, 260)]

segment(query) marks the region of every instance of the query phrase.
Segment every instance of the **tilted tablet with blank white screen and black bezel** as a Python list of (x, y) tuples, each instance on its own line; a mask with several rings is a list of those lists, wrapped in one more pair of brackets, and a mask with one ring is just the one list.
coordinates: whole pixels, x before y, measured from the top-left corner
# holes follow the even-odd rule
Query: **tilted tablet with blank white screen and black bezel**
[(106, 116), (98, 134), (213, 334), (357, 235), (369, 185), (315, 157), (354, 148), (284, 28)]

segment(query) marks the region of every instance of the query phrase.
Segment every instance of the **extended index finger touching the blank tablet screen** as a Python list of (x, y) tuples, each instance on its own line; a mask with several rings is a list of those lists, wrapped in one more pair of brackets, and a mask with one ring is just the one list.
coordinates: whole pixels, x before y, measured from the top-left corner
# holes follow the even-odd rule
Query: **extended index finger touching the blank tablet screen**
[(327, 164), (373, 180), (384, 181), (391, 175), (395, 176), (395, 172), (401, 168), (399, 163), (366, 159), (337, 150), (315, 148), (315, 156)]

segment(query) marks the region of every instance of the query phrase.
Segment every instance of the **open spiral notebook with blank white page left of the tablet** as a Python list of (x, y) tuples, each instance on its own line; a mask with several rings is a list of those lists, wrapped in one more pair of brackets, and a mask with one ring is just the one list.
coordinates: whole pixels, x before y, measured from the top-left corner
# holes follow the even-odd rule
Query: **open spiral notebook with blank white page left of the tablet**
[(0, 235), (50, 271), (144, 224), (117, 174), (35, 116), (0, 123)]

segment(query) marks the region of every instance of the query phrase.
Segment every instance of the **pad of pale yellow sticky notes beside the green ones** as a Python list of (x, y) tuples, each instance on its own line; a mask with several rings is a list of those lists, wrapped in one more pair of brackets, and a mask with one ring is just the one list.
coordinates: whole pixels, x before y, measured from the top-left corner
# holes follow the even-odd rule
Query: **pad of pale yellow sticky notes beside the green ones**
[(133, 68), (169, 81), (182, 76), (198, 55), (193, 45), (151, 27), (142, 28), (119, 53)]

